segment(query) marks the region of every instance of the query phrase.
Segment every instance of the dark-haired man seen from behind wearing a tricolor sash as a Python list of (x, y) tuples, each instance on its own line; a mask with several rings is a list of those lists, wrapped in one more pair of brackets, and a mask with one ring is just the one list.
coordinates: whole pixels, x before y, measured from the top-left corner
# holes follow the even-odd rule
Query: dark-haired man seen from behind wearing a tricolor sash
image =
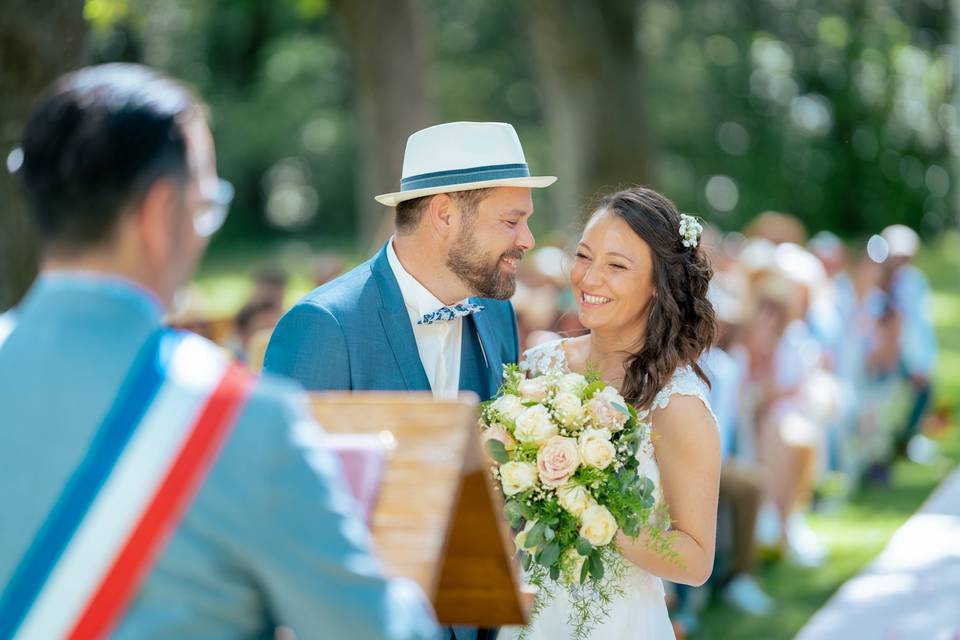
[(82, 69), (23, 153), (42, 265), (0, 344), (0, 637), (433, 637), (301, 392), (161, 325), (229, 201), (202, 105)]

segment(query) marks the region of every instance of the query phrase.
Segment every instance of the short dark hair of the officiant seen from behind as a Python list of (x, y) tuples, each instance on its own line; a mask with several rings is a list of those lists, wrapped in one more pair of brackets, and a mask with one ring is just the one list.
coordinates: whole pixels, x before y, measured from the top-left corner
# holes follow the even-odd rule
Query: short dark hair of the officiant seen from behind
[(23, 132), (20, 178), (48, 248), (109, 241), (121, 213), (161, 177), (190, 173), (184, 125), (193, 93), (134, 64), (87, 67), (40, 97)]

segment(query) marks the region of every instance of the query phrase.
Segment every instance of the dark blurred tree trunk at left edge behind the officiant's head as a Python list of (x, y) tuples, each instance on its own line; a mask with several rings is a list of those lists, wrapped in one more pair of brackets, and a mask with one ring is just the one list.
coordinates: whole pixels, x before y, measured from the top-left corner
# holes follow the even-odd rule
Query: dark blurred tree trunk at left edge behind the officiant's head
[(0, 2), (0, 312), (15, 305), (37, 271), (22, 192), (7, 171), (38, 94), (85, 53), (83, 0)]

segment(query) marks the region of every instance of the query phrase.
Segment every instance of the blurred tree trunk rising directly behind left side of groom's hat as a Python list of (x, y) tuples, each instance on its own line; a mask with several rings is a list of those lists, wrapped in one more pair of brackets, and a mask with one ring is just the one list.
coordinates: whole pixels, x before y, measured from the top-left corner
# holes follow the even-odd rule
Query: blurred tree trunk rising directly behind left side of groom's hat
[(356, 211), (361, 246), (393, 232), (393, 214), (373, 196), (397, 191), (407, 137), (434, 124), (429, 54), (418, 0), (334, 0), (351, 53), (357, 136)]

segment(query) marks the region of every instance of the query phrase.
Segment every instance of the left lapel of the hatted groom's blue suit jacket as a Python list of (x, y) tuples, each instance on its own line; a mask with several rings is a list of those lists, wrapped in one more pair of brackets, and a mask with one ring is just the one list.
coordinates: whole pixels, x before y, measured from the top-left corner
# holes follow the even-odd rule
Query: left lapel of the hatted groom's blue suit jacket
[(430, 381), (420, 361), (417, 340), (413, 336), (403, 294), (400, 293), (400, 285), (397, 284), (397, 278), (387, 260), (386, 246), (373, 262), (373, 274), (380, 288), (380, 322), (397, 359), (403, 382), (408, 391), (430, 391)]

